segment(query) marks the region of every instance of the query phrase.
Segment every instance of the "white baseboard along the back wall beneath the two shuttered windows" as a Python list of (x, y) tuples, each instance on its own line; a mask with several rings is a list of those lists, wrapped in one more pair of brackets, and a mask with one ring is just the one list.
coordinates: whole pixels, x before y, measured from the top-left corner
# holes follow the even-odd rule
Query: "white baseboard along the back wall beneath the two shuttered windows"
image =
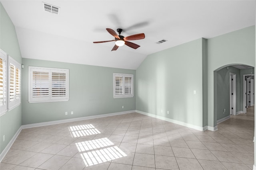
[(42, 123), (33, 123), (33, 124), (28, 124), (28, 125), (22, 125), (21, 127), (22, 127), (22, 129), (26, 129), (26, 128), (31, 128), (31, 127), (40, 127), (40, 126), (46, 126), (46, 125), (55, 125), (55, 124), (60, 124), (60, 123), (68, 123), (68, 122), (72, 122), (72, 121), (81, 121), (81, 120), (95, 119), (95, 118), (100, 118), (100, 117), (107, 117), (107, 116), (114, 116), (114, 115), (122, 115), (122, 114), (126, 114), (126, 113), (134, 113), (134, 112), (135, 112), (135, 110), (122, 111), (122, 112), (107, 113), (107, 114), (102, 114), (102, 115), (77, 117), (77, 118), (63, 119), (63, 120), (57, 120), (57, 121), (47, 121), (47, 122), (42, 122)]

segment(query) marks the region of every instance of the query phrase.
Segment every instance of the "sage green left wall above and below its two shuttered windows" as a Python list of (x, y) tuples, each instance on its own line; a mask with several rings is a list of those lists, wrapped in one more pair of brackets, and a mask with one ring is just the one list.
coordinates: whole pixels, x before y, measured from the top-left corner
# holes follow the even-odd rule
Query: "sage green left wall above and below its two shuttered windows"
[[(13, 59), (21, 63), (20, 47), (15, 27), (0, 3), (0, 48)], [(8, 145), (12, 137), (21, 126), (21, 105), (7, 111), (0, 117), (0, 153)], [(3, 141), (5, 135), (5, 141)]]

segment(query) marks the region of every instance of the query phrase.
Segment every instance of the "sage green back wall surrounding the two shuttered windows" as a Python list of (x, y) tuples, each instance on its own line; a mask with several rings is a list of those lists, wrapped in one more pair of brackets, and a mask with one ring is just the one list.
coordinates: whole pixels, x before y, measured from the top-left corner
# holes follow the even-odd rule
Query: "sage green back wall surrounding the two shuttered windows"
[[(22, 125), (135, 110), (135, 96), (113, 98), (113, 73), (134, 74), (135, 80), (135, 70), (25, 58), (22, 64)], [(68, 68), (69, 101), (28, 103), (28, 66)]]

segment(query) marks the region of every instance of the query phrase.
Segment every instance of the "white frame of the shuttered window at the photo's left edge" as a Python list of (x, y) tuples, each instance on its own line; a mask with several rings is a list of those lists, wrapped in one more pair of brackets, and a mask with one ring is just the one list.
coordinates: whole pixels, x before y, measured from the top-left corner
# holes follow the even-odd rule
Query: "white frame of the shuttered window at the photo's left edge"
[[(7, 103), (8, 103), (8, 82), (7, 82), (7, 77), (8, 77), (8, 65), (7, 65), (7, 53), (5, 53), (2, 49), (0, 49), (1, 56), (0, 58), (3, 61), (3, 100), (4, 104), (3, 106), (0, 106), (0, 116), (4, 115), (6, 111), (8, 110), (7, 108)], [(5, 67), (5, 68), (4, 68)], [(4, 96), (6, 94), (6, 96)]]

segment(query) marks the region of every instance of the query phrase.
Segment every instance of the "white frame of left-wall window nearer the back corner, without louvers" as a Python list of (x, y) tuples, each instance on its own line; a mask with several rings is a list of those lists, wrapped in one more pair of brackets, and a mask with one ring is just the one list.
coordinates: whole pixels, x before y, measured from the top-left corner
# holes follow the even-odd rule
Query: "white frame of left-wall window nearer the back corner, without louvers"
[[(18, 100), (14, 100), (10, 102), (10, 64), (14, 65), (15, 68), (20, 69), (20, 98)], [(15, 73), (15, 70), (14, 70)], [(21, 99), (21, 64), (14, 60), (10, 55), (8, 55), (8, 111), (14, 109), (15, 107), (20, 105)]]

